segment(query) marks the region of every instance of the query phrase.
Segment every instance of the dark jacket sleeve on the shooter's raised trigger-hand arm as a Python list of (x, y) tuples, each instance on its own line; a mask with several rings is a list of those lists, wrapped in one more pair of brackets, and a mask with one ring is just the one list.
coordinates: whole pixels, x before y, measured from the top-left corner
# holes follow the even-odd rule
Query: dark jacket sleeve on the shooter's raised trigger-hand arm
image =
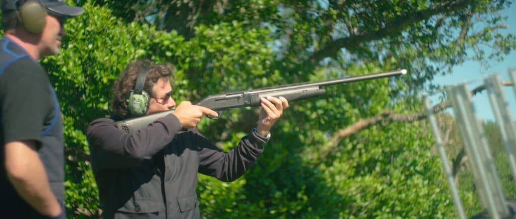
[(173, 114), (131, 134), (118, 129), (111, 119), (95, 120), (86, 131), (92, 166), (96, 170), (117, 169), (151, 159), (180, 129), (181, 124)]

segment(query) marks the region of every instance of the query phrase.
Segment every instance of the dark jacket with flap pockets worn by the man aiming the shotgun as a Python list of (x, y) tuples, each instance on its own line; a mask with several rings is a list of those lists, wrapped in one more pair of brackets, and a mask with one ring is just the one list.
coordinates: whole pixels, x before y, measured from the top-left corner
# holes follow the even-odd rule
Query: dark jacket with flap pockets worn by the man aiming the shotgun
[(108, 118), (89, 125), (104, 218), (199, 218), (197, 173), (233, 181), (249, 170), (265, 143), (250, 134), (225, 153), (197, 129), (180, 129), (173, 114), (132, 134)]

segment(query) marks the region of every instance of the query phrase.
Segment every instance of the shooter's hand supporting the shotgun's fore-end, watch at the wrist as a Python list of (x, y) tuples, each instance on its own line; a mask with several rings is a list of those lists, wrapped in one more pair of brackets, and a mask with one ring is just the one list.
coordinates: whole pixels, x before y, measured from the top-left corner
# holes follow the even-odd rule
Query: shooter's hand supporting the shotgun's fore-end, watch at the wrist
[(269, 133), (270, 128), (281, 117), (283, 110), (288, 108), (288, 101), (284, 97), (280, 98), (268, 96), (260, 98), (262, 109), (260, 111), (260, 120), (256, 131), (260, 136), (265, 137)]

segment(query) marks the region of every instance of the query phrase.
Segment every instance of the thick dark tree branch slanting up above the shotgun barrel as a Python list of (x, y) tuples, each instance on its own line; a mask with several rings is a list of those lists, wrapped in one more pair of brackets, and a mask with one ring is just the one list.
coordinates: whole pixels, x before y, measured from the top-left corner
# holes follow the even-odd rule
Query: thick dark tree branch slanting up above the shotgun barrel
[(462, 10), (469, 6), (471, 2), (472, 0), (462, 0), (436, 4), (436, 6), (429, 9), (415, 11), (413, 13), (400, 16), (398, 19), (385, 24), (383, 28), (378, 30), (369, 30), (366, 32), (358, 33), (357, 35), (350, 33), (349, 37), (336, 39), (332, 42), (329, 42), (326, 47), (314, 52), (310, 56), (307, 63), (317, 63), (326, 57), (334, 55), (341, 48), (352, 50), (363, 42), (382, 39), (394, 33), (400, 32), (409, 25), (429, 19), (433, 15)]

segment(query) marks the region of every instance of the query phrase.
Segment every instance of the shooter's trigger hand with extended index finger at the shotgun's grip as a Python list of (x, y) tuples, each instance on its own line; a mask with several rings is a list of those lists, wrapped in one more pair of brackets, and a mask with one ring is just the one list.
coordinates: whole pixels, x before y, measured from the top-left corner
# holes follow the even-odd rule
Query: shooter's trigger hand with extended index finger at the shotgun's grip
[(181, 122), (181, 127), (185, 129), (196, 127), (203, 115), (218, 116), (217, 112), (206, 107), (192, 105), (189, 101), (181, 102), (173, 113)]

